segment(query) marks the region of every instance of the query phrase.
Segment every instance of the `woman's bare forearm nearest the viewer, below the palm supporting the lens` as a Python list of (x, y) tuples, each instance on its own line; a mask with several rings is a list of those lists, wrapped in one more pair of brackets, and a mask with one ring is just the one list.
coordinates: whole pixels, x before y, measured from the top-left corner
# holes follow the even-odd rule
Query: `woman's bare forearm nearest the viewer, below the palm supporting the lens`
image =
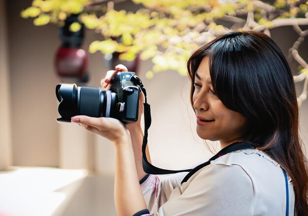
[(125, 142), (115, 147), (115, 205), (118, 216), (132, 216), (146, 209), (142, 195), (134, 153), (131, 144)]

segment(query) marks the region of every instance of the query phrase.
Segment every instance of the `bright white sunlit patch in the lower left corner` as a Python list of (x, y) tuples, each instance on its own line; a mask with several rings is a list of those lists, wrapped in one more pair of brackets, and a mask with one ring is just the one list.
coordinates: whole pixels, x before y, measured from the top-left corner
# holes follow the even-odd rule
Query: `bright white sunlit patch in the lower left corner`
[(61, 215), (87, 174), (85, 170), (31, 167), (0, 172), (0, 216)]

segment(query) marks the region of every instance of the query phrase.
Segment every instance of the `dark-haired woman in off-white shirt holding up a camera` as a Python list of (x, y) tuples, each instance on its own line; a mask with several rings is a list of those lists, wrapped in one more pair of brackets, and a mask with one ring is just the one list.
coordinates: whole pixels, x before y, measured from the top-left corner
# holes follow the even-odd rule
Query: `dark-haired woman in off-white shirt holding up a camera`
[[(160, 179), (142, 169), (140, 120), (125, 126), (111, 118), (73, 117), (115, 145), (118, 215), (308, 215), (294, 82), (273, 40), (261, 32), (227, 33), (193, 52), (187, 69), (198, 135), (219, 140), (222, 150), (246, 148)], [(126, 68), (109, 71), (103, 87), (110, 88), (119, 70)]]

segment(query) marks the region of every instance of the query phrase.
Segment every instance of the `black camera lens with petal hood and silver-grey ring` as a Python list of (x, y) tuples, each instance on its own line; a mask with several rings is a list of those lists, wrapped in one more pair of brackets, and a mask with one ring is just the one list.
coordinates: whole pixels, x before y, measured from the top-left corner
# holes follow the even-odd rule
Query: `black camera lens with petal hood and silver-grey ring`
[(115, 117), (117, 94), (101, 91), (94, 87), (77, 87), (76, 84), (62, 84), (56, 87), (60, 102), (58, 111), (60, 122), (70, 122), (71, 117), (85, 115), (90, 117)]

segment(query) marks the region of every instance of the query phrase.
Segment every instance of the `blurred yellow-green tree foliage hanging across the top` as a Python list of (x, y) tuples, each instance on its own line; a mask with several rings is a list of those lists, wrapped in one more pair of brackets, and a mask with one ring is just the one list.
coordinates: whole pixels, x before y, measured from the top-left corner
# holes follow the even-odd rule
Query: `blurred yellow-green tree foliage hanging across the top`
[[(308, 3), (298, 0), (276, 0), (275, 10), (266, 11), (256, 0), (133, 0), (142, 4), (136, 12), (116, 11), (103, 7), (91, 11), (92, 0), (33, 0), (23, 18), (33, 18), (36, 26), (53, 23), (62, 25), (67, 16), (80, 14), (86, 28), (102, 34), (101, 41), (93, 41), (90, 53), (120, 52), (121, 60), (132, 61), (140, 53), (142, 60), (152, 59), (154, 67), (147, 72), (151, 78), (155, 72), (168, 69), (186, 74), (185, 62), (196, 47), (226, 31), (216, 21), (225, 16), (246, 19), (253, 12), (254, 21), (266, 29), (274, 28), (273, 21), (288, 17), (305, 17)], [(105, 2), (106, 3), (106, 2)], [(262, 3), (262, 2), (261, 2)], [(85, 8), (87, 12), (85, 12)], [(94, 8), (94, 7), (93, 7)], [(89, 12), (90, 11), (90, 12)], [(99, 15), (97, 15), (99, 14)], [(237, 23), (235, 23), (237, 24)], [(241, 29), (243, 25), (235, 25)], [(71, 31), (80, 30), (73, 23)], [(117, 40), (114, 40), (117, 38)]]

